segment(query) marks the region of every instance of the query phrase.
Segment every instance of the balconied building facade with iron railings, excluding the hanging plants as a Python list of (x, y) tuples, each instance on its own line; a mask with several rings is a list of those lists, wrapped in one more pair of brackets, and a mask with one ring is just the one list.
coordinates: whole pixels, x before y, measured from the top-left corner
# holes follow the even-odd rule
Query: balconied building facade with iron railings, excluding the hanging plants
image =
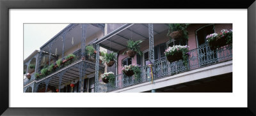
[[(190, 24), (188, 41), (170, 40), (168, 29), (168, 24), (70, 24), (24, 61), (24, 71), (31, 73), (24, 79), (24, 92), (232, 92), (232, 46), (211, 50), (205, 39), (232, 24)], [(143, 54), (123, 54), (128, 40), (143, 40)], [(97, 51), (94, 61), (84, 54), (87, 45)], [(164, 51), (173, 45), (189, 46), (186, 65), (166, 59)], [(100, 64), (100, 51), (118, 53), (116, 65)], [(28, 68), (36, 64), (39, 72), (45, 63), (50, 66), (70, 53), (76, 54), (75, 61), (42, 78)], [(129, 64), (141, 66), (139, 79), (122, 73)], [(102, 82), (100, 75), (109, 71), (116, 75), (115, 84)]]

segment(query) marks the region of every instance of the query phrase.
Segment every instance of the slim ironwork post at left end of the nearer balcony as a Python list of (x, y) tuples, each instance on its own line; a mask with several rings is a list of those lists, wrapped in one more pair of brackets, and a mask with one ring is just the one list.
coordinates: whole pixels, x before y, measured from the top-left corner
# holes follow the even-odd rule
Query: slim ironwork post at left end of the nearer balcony
[(98, 83), (99, 83), (99, 50), (100, 50), (100, 45), (96, 45), (96, 62), (95, 62), (95, 81), (94, 81), (94, 90), (95, 92), (98, 91)]

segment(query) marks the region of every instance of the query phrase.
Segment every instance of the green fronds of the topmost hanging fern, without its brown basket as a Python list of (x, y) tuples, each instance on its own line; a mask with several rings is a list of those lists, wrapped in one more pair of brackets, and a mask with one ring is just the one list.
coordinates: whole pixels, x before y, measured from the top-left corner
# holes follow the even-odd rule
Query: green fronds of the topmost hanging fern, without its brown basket
[[(188, 25), (190, 24), (169, 24), (167, 36), (170, 36), (170, 33), (173, 33), (174, 31), (182, 31), (183, 38), (188, 41)], [(170, 40), (172, 39), (173, 38), (170, 37)]]

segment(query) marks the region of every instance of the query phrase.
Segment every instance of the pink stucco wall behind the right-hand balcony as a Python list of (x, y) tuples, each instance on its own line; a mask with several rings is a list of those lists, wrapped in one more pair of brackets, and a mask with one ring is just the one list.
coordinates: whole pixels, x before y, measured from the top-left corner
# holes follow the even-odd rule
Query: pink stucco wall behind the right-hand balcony
[[(196, 43), (196, 30), (200, 29), (200, 27), (203, 27), (204, 25), (208, 25), (208, 24), (191, 24), (188, 27), (188, 46), (189, 46), (189, 50), (193, 50), (195, 48), (197, 48), (197, 43)], [(215, 32), (216, 33), (220, 33), (221, 29), (232, 29), (232, 24), (214, 24), (215, 27)], [(168, 33), (168, 31), (164, 31), (163, 33), (157, 34), (156, 36), (154, 36), (154, 46), (159, 45), (161, 43), (166, 43), (167, 41), (169, 41), (169, 37), (166, 36), (166, 34)], [(143, 41), (143, 43), (141, 43), (141, 51), (147, 50), (148, 46), (149, 46), (149, 41), (145, 40)], [(125, 59), (126, 57), (128, 57), (126, 54), (122, 55), (124, 52), (124, 50), (122, 50), (119, 53), (118, 56), (118, 74), (122, 73), (122, 60)], [(195, 54), (196, 55), (196, 54)], [(132, 64), (136, 64), (136, 56), (132, 59)], [(195, 62), (194, 62), (195, 63)]]

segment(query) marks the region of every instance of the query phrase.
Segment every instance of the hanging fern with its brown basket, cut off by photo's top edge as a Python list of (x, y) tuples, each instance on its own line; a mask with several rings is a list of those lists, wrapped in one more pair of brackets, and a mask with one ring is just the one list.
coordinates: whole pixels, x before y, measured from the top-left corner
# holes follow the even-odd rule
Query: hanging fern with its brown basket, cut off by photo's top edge
[(174, 40), (188, 40), (188, 28), (189, 24), (169, 24), (168, 36)]

